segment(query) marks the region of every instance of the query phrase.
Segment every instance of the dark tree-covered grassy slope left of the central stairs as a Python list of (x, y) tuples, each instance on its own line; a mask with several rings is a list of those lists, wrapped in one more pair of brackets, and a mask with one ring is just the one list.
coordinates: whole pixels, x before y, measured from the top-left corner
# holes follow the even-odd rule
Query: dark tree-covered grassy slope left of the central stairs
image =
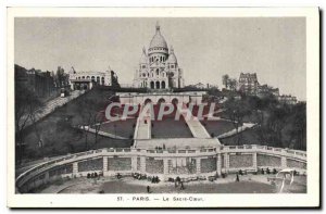
[[(25, 162), (45, 156), (63, 155), (82, 152), (96, 148), (124, 148), (130, 147), (133, 140), (115, 140), (106, 137), (98, 137), (95, 142), (95, 134), (87, 135), (78, 129), (83, 124), (80, 108), (86, 101), (98, 103), (99, 110), (104, 110), (109, 103), (108, 98), (114, 92), (108, 89), (92, 89), (77, 99), (58, 108), (35, 125), (24, 130), (24, 156)], [(39, 141), (41, 139), (41, 143)], [(42, 147), (41, 147), (42, 144)]]

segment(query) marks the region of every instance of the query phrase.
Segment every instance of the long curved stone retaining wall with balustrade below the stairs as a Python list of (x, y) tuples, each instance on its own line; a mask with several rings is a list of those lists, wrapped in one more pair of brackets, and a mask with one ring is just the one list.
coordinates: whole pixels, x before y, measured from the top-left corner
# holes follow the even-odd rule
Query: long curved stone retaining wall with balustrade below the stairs
[(189, 150), (100, 149), (70, 154), (41, 163), (16, 178), (18, 192), (62, 177), (82, 177), (89, 173), (114, 176), (131, 173), (170, 177), (203, 177), (221, 173), (261, 168), (287, 168), (306, 172), (306, 152), (265, 146), (237, 146)]

